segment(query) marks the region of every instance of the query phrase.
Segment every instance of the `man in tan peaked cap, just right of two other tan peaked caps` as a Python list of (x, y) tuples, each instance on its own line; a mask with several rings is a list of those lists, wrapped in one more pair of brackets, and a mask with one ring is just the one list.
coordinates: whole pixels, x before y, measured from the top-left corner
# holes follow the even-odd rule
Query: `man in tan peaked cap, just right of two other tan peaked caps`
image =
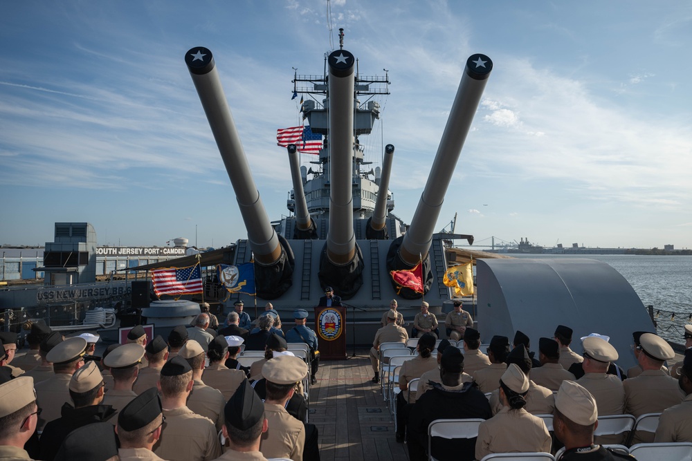
[[(113, 388), (103, 397), (104, 404), (119, 411), (137, 397), (137, 394), (132, 391), (132, 386), (137, 379), (138, 365), (142, 357), (144, 357), (144, 348), (134, 343), (123, 344), (107, 355), (104, 365), (111, 369)], [(113, 418), (111, 422), (116, 424), (116, 418)]]

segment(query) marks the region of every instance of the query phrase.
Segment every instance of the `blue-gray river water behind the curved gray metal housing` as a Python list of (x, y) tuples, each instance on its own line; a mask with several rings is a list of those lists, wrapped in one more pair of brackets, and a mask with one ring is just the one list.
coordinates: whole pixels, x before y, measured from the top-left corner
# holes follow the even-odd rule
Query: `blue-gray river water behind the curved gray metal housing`
[(634, 254), (508, 254), (516, 258), (588, 258), (607, 263), (632, 285), (644, 305), (692, 313), (692, 256)]

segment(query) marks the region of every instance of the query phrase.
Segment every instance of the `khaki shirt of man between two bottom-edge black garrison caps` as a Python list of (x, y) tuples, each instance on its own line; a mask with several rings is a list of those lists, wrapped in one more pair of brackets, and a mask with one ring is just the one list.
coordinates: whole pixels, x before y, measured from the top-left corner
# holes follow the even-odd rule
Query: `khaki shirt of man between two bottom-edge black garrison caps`
[(209, 461), (221, 456), (217, 431), (209, 418), (193, 413), (187, 406), (163, 409), (161, 439), (154, 453), (169, 461)]

